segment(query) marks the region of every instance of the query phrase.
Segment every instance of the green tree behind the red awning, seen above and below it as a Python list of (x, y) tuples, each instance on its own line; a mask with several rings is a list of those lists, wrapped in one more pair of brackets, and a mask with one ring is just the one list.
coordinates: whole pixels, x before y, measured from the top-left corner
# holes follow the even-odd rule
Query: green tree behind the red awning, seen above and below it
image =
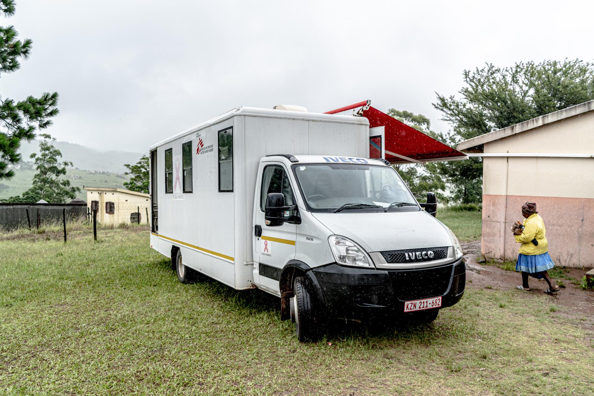
[[(437, 132), (431, 131), (431, 121), (422, 114), (396, 109), (389, 109), (387, 114), (434, 139), (443, 140), (444, 138)], [(428, 191), (435, 192), (438, 201), (448, 201), (447, 196), (444, 194), (445, 182), (438, 172), (437, 163), (394, 165), (394, 169), (419, 201), (425, 202)]]

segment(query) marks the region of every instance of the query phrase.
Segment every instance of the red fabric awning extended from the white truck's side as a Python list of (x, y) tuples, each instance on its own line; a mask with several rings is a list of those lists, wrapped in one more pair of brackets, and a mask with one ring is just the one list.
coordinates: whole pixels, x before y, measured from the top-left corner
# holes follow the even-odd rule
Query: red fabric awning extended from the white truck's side
[[(384, 126), (384, 140), (386, 160), (391, 163), (424, 163), (427, 161), (447, 161), (466, 159), (466, 154), (454, 150), (448, 145), (417, 131), (415, 128), (388, 116), (374, 107), (369, 106), (371, 101), (359, 102), (351, 106), (331, 110), (328, 114), (343, 112), (356, 107), (362, 107), (358, 114), (369, 120), (369, 128)], [(370, 154), (375, 150), (376, 144), (370, 141)], [(377, 157), (377, 156), (372, 156)]]

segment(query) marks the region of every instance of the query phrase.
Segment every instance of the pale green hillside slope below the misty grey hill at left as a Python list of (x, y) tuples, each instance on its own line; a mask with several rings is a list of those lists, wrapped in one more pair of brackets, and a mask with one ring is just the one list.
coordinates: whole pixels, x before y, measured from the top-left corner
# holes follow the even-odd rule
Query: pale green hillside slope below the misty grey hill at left
[[(33, 185), (33, 176), (37, 172), (34, 169), (13, 169), (14, 177), (10, 180), (0, 182), (0, 199), (21, 195), (24, 191)], [(74, 179), (77, 176), (77, 179)], [(70, 185), (80, 187), (81, 191), (77, 198), (87, 200), (87, 192), (83, 186), (91, 187), (116, 187), (124, 188), (124, 182), (129, 180), (129, 176), (119, 175), (118, 173), (97, 173), (90, 170), (68, 169), (68, 173), (62, 178), (70, 180)]]

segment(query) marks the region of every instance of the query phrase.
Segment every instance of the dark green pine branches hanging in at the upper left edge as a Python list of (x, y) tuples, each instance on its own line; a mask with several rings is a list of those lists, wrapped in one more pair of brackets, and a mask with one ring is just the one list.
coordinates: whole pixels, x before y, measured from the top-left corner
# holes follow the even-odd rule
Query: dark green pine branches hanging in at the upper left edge
[[(0, 0), (0, 14), (14, 15), (14, 0)], [(19, 59), (29, 58), (33, 42), (30, 39), (17, 40), (14, 26), (0, 27), (0, 73), (10, 73), (20, 68)], [(21, 140), (30, 141), (37, 128), (51, 125), (50, 118), (58, 114), (58, 93), (43, 93), (40, 97), (29, 96), (15, 102), (0, 99), (0, 179), (10, 179), (14, 172), (9, 163), (21, 160), (18, 149)]]

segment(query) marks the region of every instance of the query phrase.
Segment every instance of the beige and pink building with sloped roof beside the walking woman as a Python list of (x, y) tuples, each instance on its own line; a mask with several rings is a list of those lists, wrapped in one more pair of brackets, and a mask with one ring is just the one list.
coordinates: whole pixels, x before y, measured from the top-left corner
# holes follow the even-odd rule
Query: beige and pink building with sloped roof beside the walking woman
[(594, 100), (463, 142), (484, 157), (481, 251), (515, 259), (511, 224), (536, 202), (555, 264), (594, 267)]

